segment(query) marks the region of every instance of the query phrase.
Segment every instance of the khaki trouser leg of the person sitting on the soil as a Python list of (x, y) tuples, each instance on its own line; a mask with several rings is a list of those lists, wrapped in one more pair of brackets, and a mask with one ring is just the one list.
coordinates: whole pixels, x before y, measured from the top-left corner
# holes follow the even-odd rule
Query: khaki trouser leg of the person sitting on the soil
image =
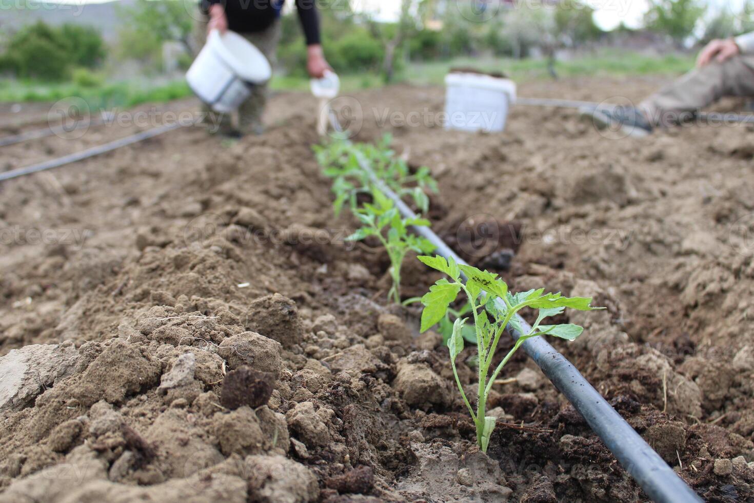
[(654, 124), (673, 124), (683, 114), (696, 112), (722, 97), (754, 97), (754, 56), (731, 57), (691, 70), (639, 108)]

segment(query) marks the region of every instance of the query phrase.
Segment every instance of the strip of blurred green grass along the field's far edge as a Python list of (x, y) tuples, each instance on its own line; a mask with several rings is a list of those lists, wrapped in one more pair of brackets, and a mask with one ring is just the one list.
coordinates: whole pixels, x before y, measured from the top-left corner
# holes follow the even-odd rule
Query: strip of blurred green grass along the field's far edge
[[(419, 85), (443, 85), (443, 79), (454, 66), (473, 66), (483, 71), (504, 72), (516, 81), (550, 78), (545, 60), (513, 60), (493, 57), (459, 57), (446, 61), (410, 63), (402, 69), (396, 81)], [(669, 54), (651, 57), (630, 51), (603, 49), (590, 56), (556, 62), (560, 77), (605, 76), (629, 77), (631, 75), (680, 75), (694, 66), (691, 55)], [(382, 77), (375, 73), (344, 73), (341, 89), (348, 93), (360, 89), (380, 87)], [(308, 78), (278, 76), (270, 84), (274, 90), (309, 89)], [(34, 81), (0, 80), (0, 103), (62, 100), (81, 97), (92, 109), (136, 106), (140, 103), (164, 103), (187, 97), (189, 86), (182, 79), (167, 84), (153, 85), (143, 81), (121, 81), (97, 87), (81, 87), (72, 83), (40, 83)]]

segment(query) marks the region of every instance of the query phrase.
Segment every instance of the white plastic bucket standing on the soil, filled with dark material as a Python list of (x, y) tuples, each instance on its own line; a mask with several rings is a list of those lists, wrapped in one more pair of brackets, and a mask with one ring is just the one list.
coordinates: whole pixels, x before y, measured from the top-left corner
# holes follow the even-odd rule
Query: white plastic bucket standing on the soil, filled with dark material
[(446, 129), (496, 132), (505, 129), (516, 84), (507, 78), (452, 72), (445, 77)]

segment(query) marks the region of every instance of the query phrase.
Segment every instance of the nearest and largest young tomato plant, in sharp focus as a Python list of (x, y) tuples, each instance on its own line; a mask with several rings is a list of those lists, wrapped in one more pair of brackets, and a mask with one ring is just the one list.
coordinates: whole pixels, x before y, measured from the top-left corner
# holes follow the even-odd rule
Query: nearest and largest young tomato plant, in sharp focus
[[(458, 293), (463, 291), (468, 299), (469, 312), (474, 319), (474, 330), (477, 335), (477, 357), (479, 360), (477, 365), (479, 382), (476, 411), (466, 397), (455, 367), (455, 358), (464, 348), (463, 332), (468, 318), (458, 317), (455, 320), (452, 335), (448, 339), (447, 345), (450, 350), (450, 363), (455, 376), (455, 383), (458, 385), (458, 391), (461, 392), (461, 397), (471, 414), (471, 418), (474, 419), (474, 425), (477, 428), (477, 443), (486, 452), (490, 436), (495, 429), (495, 418), (485, 416), (487, 398), (492, 390), (492, 384), (498, 378), (498, 374), (503, 370), (510, 357), (526, 339), (547, 335), (572, 341), (580, 336), (584, 330), (573, 324), (543, 325), (542, 321), (545, 318), (560, 314), (566, 308), (580, 311), (598, 308), (591, 307), (592, 299), (590, 298), (564, 297), (559, 293), (544, 293), (544, 288), (513, 295), (508, 292), (507, 284), (497, 275), (488, 271), (480, 271), (470, 265), (458, 265), (452, 258), (446, 261), (442, 256), (419, 256), (418, 259), (429, 267), (444, 272), (450, 278), (450, 281), (446, 278), (438, 280), (436, 284), (430, 287), (429, 293), (421, 298), (421, 303), (425, 305), (424, 311), (421, 312), (422, 332), (446, 317), (448, 306), (455, 301)], [(461, 281), (461, 273), (467, 278), (465, 284)], [(496, 299), (501, 299), (502, 302), (498, 302)], [(523, 308), (538, 310), (537, 320), (527, 333), (523, 332), (523, 327), (516, 319), (516, 313)], [(490, 374), (495, 349), (497, 349), (500, 336), (508, 324), (522, 333), (522, 336), (516, 340), (513, 348), (508, 351)]]

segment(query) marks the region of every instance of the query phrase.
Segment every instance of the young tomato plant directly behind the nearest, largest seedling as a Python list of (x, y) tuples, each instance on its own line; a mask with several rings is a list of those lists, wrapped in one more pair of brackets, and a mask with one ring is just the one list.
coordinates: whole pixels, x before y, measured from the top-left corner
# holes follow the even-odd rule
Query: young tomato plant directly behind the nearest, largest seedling
[(390, 258), (390, 276), (393, 280), (388, 297), (400, 304), (400, 268), (406, 253), (431, 253), (434, 245), (425, 238), (409, 234), (409, 226), (430, 225), (427, 219), (404, 219), (393, 201), (379, 192), (372, 190), (372, 204), (365, 203), (355, 211), (362, 227), (346, 238), (348, 241), (360, 241), (375, 236), (388, 252)]

